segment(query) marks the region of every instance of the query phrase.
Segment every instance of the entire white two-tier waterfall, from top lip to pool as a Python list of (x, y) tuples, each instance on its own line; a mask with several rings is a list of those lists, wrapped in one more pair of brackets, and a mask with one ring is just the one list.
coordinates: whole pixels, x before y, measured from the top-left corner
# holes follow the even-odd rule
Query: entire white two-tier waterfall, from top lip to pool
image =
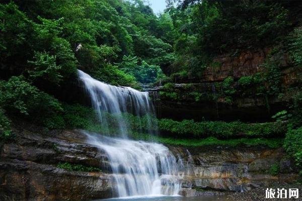
[[(130, 87), (118, 87), (100, 82), (79, 70), (79, 77), (97, 111), (104, 134), (109, 132), (106, 113), (115, 114), (119, 134), (111, 138), (85, 132), (88, 143), (105, 151), (116, 181), (119, 197), (177, 195), (181, 183), (177, 176), (176, 157), (167, 147), (157, 143), (126, 139), (128, 125), (124, 112), (137, 116), (154, 114), (148, 92)], [(152, 124), (151, 121), (147, 121)], [(150, 128), (150, 127), (149, 127)]]

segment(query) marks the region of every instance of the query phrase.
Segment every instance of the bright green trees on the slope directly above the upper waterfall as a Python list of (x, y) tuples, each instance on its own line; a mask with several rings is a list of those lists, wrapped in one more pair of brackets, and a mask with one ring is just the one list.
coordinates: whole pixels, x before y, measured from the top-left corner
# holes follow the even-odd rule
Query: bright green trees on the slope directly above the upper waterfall
[[(76, 68), (112, 84), (135, 85), (130, 75), (153, 82), (173, 60), (171, 18), (140, 0), (4, 2), (0, 18), (1, 69), (43, 83), (58, 84)], [(128, 57), (139, 69), (123, 66)]]

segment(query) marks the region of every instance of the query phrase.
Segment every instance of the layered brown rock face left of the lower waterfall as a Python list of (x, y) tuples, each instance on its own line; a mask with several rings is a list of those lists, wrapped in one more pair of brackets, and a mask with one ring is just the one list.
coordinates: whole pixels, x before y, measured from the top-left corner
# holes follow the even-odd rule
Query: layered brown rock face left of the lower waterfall
[[(14, 131), (15, 142), (1, 145), (0, 200), (89, 200), (115, 196), (106, 156), (77, 131), (38, 134)], [(40, 133), (40, 132), (39, 132)], [(59, 162), (103, 167), (102, 172), (57, 168)]]

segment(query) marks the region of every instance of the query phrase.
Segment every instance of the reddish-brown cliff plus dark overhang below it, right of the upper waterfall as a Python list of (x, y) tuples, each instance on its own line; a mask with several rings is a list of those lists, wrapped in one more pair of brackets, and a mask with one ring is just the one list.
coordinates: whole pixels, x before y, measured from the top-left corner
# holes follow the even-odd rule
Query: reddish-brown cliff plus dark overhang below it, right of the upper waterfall
[[(256, 51), (242, 51), (235, 55), (217, 56), (201, 75), (188, 74), (174, 76), (174, 88), (157, 87), (150, 89), (157, 102), (158, 116), (175, 120), (194, 119), (255, 122), (269, 121), (271, 117), (285, 109), (290, 94), (277, 95), (257, 92), (253, 84), (245, 87), (238, 84), (243, 76), (251, 76), (264, 71), (262, 64), (267, 59), (270, 48)], [(276, 57), (276, 58), (274, 58)], [(274, 56), (280, 63), (282, 88), (295, 86), (300, 82), (298, 69), (289, 61), (286, 52), (280, 51)], [(228, 77), (234, 84), (221, 88)], [(231, 94), (224, 94), (225, 91)], [(254, 88), (253, 88), (254, 87)], [(232, 90), (233, 90), (232, 89)], [(268, 90), (268, 89), (267, 89)], [(155, 95), (156, 91), (158, 94)], [(228, 93), (228, 92), (226, 92)]]

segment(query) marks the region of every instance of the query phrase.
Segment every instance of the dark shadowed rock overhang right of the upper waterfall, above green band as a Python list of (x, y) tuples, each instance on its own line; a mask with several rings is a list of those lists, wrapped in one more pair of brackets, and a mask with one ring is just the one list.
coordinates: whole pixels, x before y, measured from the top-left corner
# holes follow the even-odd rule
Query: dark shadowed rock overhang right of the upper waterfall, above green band
[(157, 100), (154, 102), (157, 116), (178, 121), (240, 119), (246, 122), (266, 122), (270, 121), (274, 114), (284, 110), (286, 105), (283, 100), (275, 97), (243, 97), (240, 92), (232, 98), (232, 104), (229, 104), (225, 98), (219, 97), (221, 89), (214, 83), (175, 84), (173, 91), (177, 94), (176, 98), (162, 95), (161, 91), (165, 89), (160, 87), (149, 92), (152, 98)]

